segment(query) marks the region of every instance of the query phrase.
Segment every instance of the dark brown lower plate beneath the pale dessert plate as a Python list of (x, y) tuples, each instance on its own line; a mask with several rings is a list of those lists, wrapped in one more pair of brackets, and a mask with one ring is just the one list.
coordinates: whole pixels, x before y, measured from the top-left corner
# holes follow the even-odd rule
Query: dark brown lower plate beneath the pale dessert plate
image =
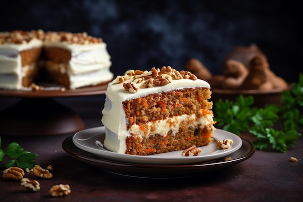
[(255, 146), (248, 140), (242, 139), (242, 147), (228, 155), (231, 160), (226, 161), (221, 157), (208, 162), (201, 162), (186, 165), (150, 165), (138, 163), (124, 163), (115, 160), (108, 160), (97, 155), (79, 149), (73, 143), (73, 136), (62, 142), (63, 150), (72, 157), (85, 163), (97, 166), (104, 171), (130, 177), (139, 178), (182, 178), (202, 174), (204, 171), (225, 168), (244, 160), (247, 160), (255, 153)]

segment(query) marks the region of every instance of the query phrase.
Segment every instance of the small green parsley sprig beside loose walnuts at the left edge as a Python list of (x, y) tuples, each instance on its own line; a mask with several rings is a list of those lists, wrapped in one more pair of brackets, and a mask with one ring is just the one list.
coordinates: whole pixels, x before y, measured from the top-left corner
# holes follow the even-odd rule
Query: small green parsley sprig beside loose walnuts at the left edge
[(5, 150), (2, 150), (1, 143), (0, 137), (0, 161), (4, 161), (5, 155), (12, 158), (5, 164), (6, 168), (16, 166), (22, 169), (32, 169), (35, 165), (38, 165), (35, 160), (38, 155), (25, 151), (18, 143), (10, 143)]

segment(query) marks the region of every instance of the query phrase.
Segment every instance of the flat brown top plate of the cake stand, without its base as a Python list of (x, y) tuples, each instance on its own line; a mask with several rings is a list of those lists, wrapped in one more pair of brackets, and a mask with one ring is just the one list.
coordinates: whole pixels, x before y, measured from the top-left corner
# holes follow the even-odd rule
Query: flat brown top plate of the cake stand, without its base
[(53, 97), (100, 95), (106, 93), (106, 88), (108, 83), (109, 82), (96, 86), (78, 88), (76, 90), (66, 89), (65, 91), (61, 91), (60, 88), (56, 88), (56, 90), (40, 90), (40, 91), (0, 89), (0, 96), (21, 97), (21, 98), (53, 98)]

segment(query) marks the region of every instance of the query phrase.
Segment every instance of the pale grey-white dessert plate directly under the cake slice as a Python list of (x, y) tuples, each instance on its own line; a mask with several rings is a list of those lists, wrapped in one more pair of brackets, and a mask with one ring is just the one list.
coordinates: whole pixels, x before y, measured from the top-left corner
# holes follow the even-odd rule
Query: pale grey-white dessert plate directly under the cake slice
[[(214, 139), (209, 145), (200, 147), (202, 152), (197, 156), (182, 156), (182, 151), (167, 152), (156, 155), (126, 155), (111, 152), (103, 147), (105, 139), (105, 127), (94, 127), (77, 132), (73, 136), (73, 143), (76, 147), (105, 159), (139, 164), (153, 165), (184, 165), (214, 160), (230, 155), (242, 146), (242, 139), (230, 132), (216, 129), (212, 135)], [(232, 145), (228, 149), (218, 149), (217, 141), (231, 139)]]

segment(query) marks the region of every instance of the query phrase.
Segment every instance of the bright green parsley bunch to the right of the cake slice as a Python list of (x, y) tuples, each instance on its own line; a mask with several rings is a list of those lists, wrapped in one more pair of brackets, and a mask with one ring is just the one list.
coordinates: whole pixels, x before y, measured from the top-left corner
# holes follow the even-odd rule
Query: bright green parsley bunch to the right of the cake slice
[[(214, 104), (214, 120), (224, 130), (240, 136), (241, 132), (250, 132), (257, 137), (253, 143), (256, 149), (265, 150), (272, 146), (274, 150), (286, 152), (295, 146), (302, 134), (303, 126), (303, 74), (291, 90), (282, 92), (282, 107), (267, 104), (264, 108), (253, 107), (254, 97), (240, 95), (236, 101), (219, 99)], [(274, 129), (281, 122), (282, 129)]]

